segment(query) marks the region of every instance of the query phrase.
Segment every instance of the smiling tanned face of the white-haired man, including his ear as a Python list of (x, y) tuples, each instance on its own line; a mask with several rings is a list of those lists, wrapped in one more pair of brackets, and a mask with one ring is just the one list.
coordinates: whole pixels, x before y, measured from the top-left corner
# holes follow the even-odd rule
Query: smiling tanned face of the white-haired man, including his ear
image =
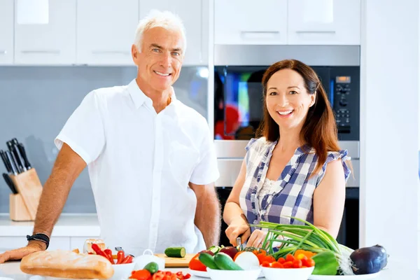
[(181, 32), (153, 27), (144, 31), (141, 52), (133, 45), (134, 63), (139, 67), (139, 78), (151, 89), (167, 90), (179, 77), (183, 62)]

